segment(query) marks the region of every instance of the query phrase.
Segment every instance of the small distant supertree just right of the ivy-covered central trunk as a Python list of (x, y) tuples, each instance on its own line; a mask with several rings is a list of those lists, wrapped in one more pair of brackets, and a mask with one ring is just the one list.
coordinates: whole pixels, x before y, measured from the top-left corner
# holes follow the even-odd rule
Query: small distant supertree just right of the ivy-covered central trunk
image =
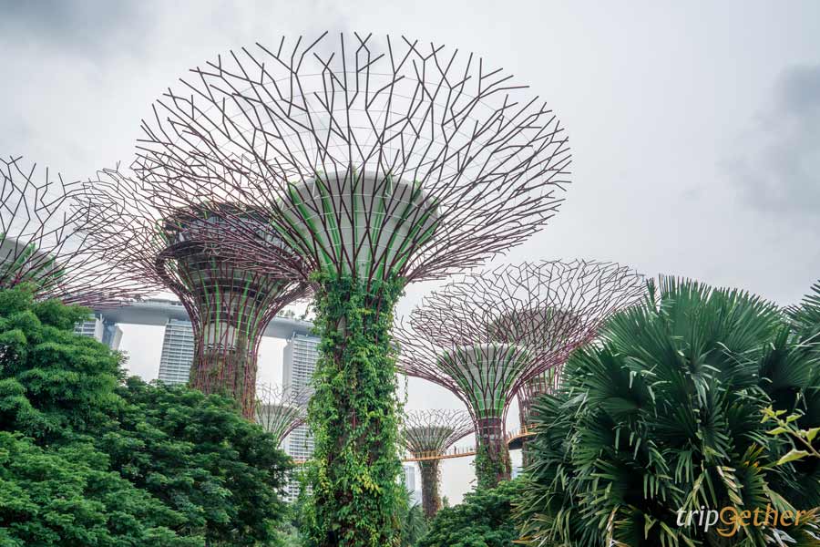
[(473, 431), (473, 420), (464, 410), (427, 409), (405, 414), (401, 439), (421, 470), (422, 508), (428, 518), (434, 517), (441, 509), (438, 457)]

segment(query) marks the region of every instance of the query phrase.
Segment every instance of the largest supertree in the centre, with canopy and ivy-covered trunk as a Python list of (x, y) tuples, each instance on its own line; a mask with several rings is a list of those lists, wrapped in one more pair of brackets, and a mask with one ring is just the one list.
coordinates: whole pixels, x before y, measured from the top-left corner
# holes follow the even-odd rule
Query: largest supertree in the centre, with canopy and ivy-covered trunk
[(389, 544), (401, 495), (395, 302), (405, 284), (475, 266), (547, 224), (569, 165), (558, 119), (471, 54), (323, 35), (192, 69), (143, 131), (135, 169), (157, 199), (227, 189), (298, 255), (224, 236), (242, 268), (287, 263), (315, 287), (312, 541)]

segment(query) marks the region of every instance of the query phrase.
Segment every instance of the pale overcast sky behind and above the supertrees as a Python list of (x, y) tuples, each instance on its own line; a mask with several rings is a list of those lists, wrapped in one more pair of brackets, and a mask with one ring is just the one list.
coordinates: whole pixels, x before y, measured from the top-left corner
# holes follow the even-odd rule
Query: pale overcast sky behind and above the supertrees
[[(405, 35), (504, 67), (569, 132), (566, 203), (503, 260), (615, 261), (779, 304), (820, 278), (820, 2), (0, 6), (0, 154), (68, 180), (128, 164), (151, 102), (231, 48), (324, 30)], [(400, 313), (431, 286), (408, 288)], [(161, 328), (124, 330), (131, 369), (156, 377)], [(280, 381), (281, 353), (265, 341), (263, 379)], [(411, 381), (408, 406), (459, 405)], [(460, 500), (468, 462), (443, 471)]]

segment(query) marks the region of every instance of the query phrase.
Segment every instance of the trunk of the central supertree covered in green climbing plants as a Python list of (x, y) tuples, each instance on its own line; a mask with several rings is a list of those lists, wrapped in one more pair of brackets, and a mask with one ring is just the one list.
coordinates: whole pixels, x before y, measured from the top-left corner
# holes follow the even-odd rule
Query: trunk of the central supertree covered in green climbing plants
[(396, 442), (393, 307), (404, 283), (317, 275), (322, 336), (308, 419), (315, 449), (308, 544), (396, 545), (402, 496)]

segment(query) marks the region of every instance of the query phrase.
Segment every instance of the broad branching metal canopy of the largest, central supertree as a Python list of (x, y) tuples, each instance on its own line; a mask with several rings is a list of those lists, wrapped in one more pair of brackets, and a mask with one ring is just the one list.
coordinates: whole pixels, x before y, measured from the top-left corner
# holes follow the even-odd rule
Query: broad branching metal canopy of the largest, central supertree
[[(167, 210), (206, 195), (264, 212), (302, 279), (440, 278), (523, 242), (562, 201), (567, 138), (510, 78), (407, 39), (242, 48), (157, 101), (134, 169)], [(241, 267), (282, 268), (265, 238), (220, 237)]]

